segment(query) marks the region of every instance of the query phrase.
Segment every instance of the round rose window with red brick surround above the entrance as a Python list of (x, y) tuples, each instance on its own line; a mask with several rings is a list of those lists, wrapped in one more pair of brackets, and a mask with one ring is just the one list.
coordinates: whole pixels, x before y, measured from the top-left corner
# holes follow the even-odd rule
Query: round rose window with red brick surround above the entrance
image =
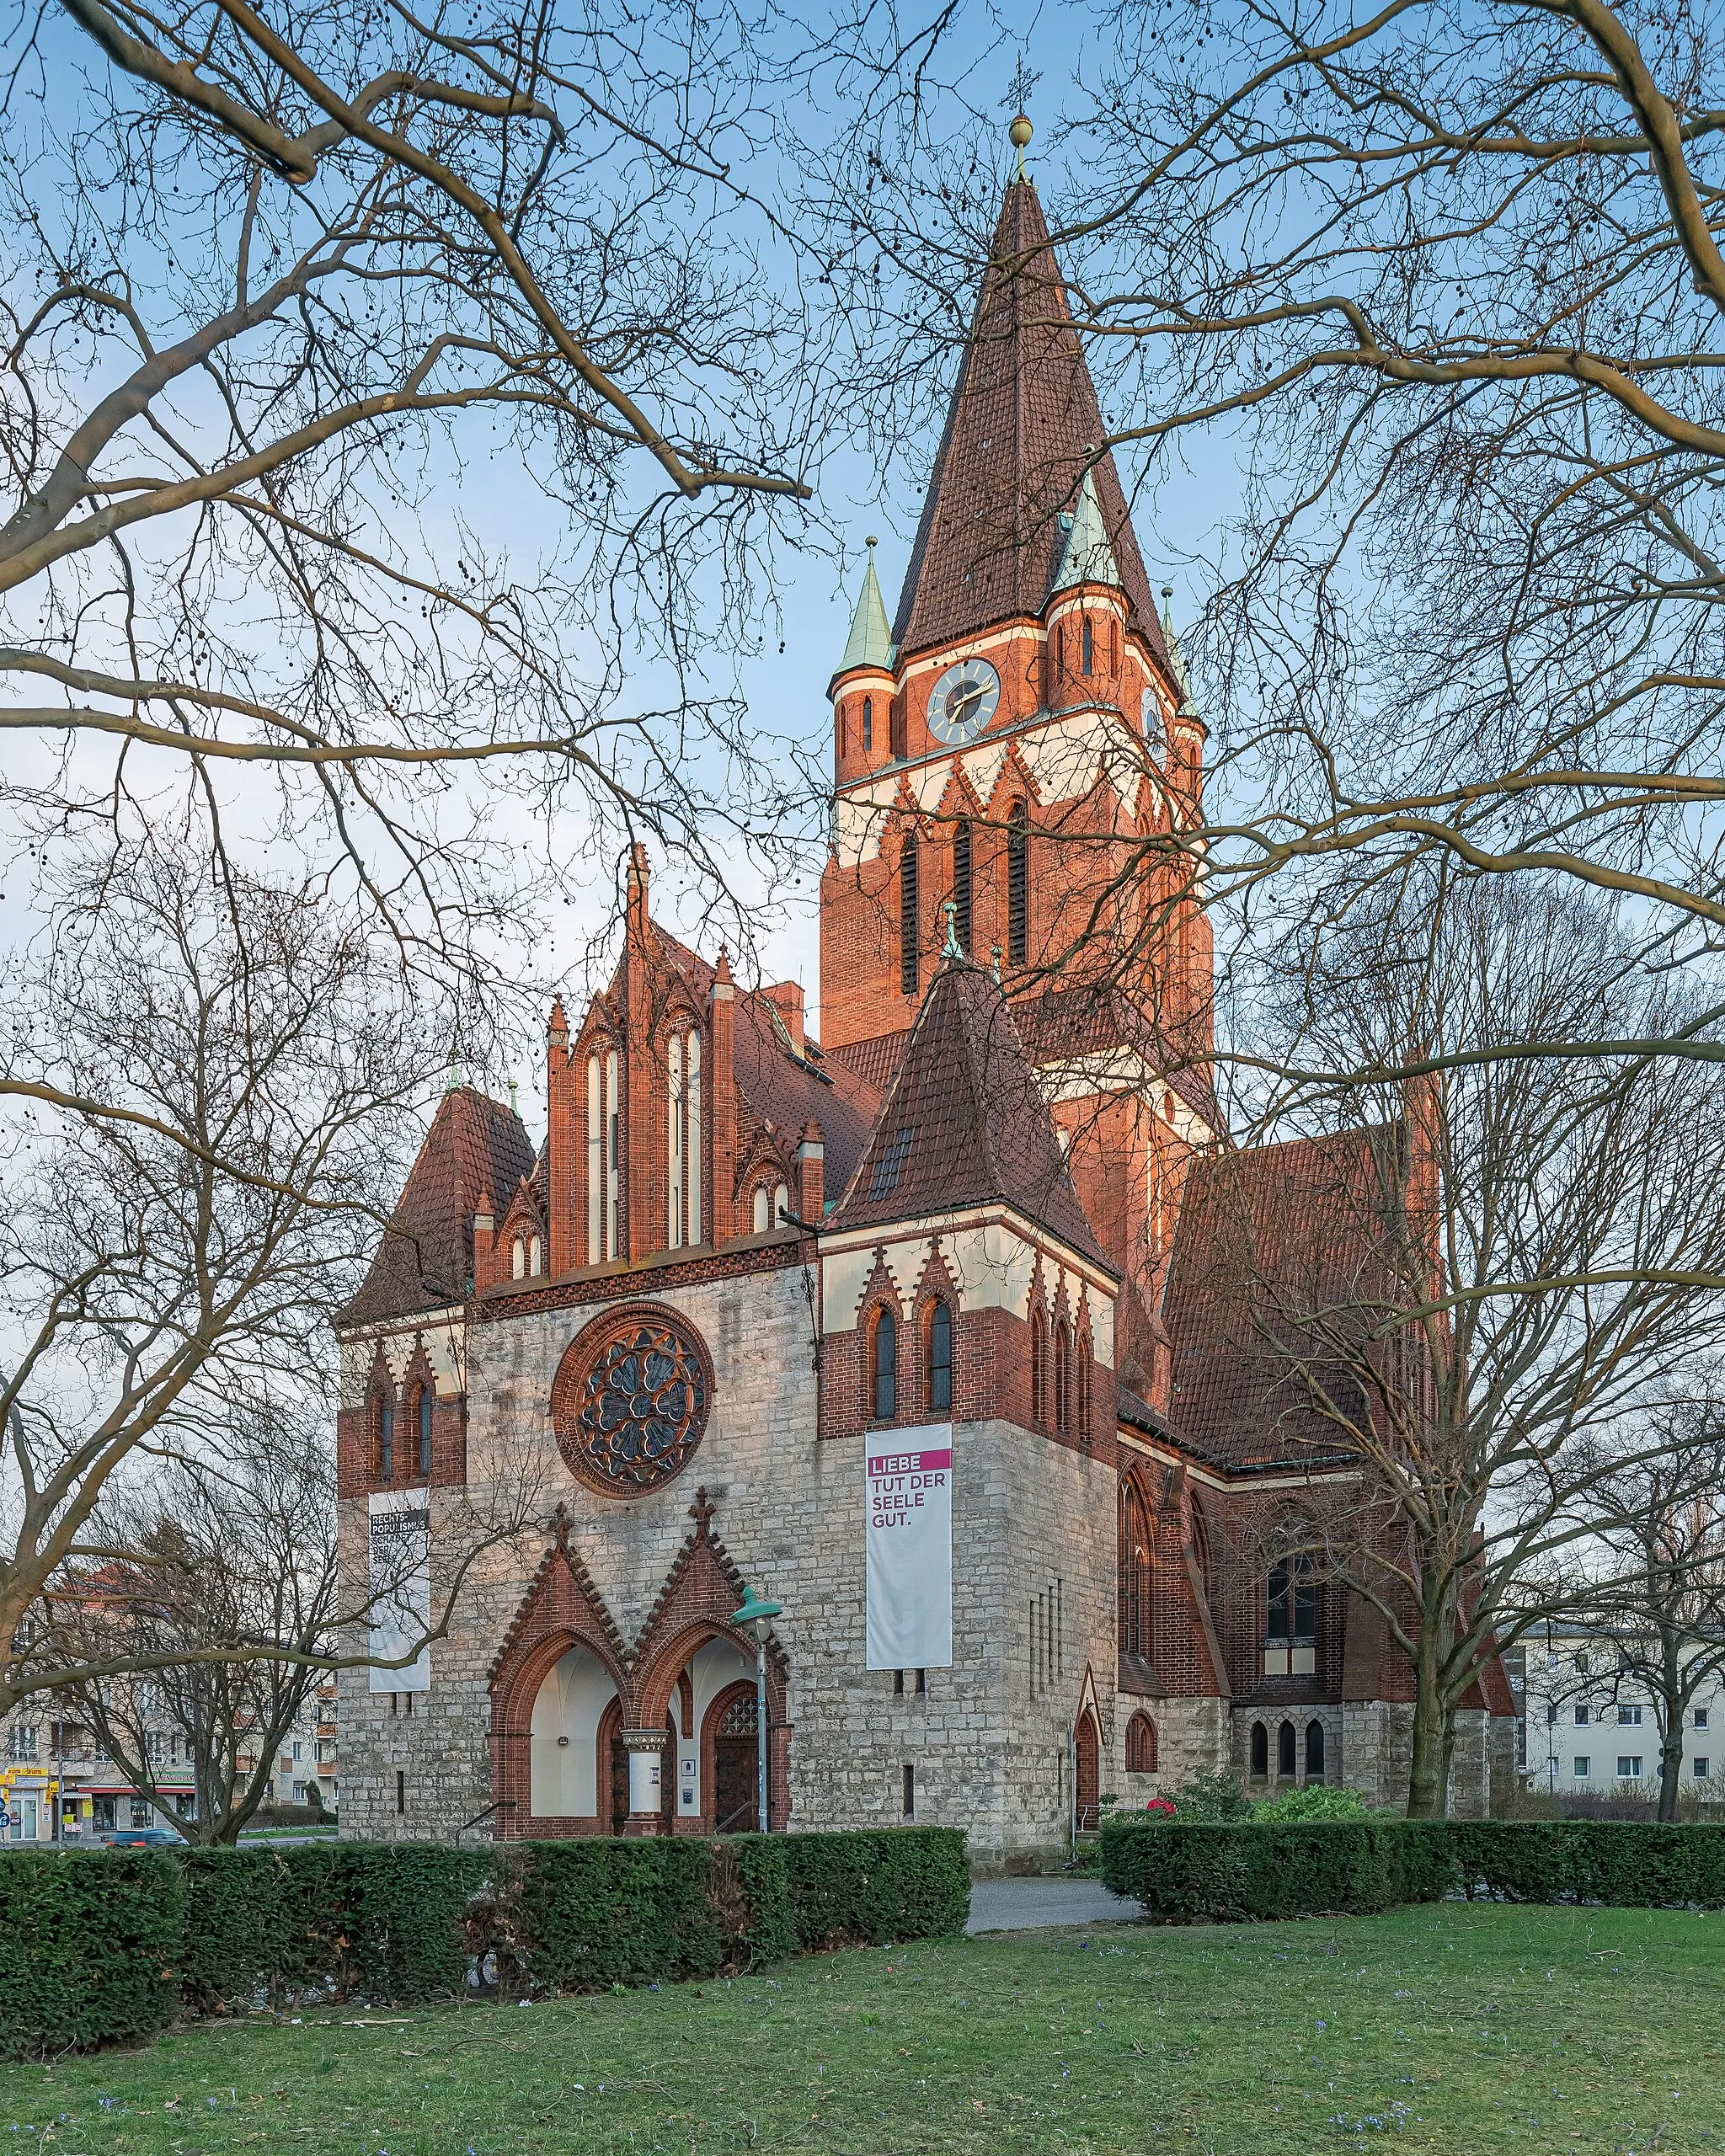
[(589, 1328), (565, 1354), (552, 1391), (563, 1457), (608, 1496), (671, 1481), (707, 1425), (707, 1356), (671, 1311), (634, 1311)]

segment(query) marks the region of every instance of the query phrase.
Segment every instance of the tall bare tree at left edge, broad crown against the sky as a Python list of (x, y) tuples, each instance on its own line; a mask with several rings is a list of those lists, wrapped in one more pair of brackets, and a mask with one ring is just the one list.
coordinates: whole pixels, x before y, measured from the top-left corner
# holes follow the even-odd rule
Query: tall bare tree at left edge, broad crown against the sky
[(321, 1328), (418, 1091), (390, 946), (315, 882), (211, 890), (196, 856), (104, 856), (6, 990), (4, 1067), (41, 1106), (6, 1132), (0, 1225), (0, 1712), (136, 1667), (67, 1662), (39, 1617), (69, 1574), (140, 1559), (108, 1533), (134, 1466), (231, 1460), (265, 1412), (319, 1412)]

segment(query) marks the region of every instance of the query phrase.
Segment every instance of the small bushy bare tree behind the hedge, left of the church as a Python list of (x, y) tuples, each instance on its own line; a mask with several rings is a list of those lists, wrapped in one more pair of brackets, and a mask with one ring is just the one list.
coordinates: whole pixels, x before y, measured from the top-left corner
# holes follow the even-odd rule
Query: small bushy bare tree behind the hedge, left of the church
[[(233, 1843), (274, 1787), (280, 1746), (326, 1680), (341, 1617), (334, 1468), (317, 1386), (231, 1429), (222, 1460), (175, 1462), (104, 1507), (129, 1550), (43, 1598), (43, 1647), (80, 1677), (63, 1699), (188, 1841)], [(164, 1744), (164, 1738), (168, 1740)], [(164, 1794), (185, 1753), (194, 1813)]]

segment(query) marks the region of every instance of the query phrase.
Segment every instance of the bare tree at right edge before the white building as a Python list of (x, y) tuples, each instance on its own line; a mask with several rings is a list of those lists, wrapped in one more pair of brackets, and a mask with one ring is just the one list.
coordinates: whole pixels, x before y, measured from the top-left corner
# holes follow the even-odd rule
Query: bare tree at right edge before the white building
[(1662, 1449), (1613, 1470), (1598, 1492), (1591, 1526), (1604, 1563), (1585, 1615), (1615, 1651), (1617, 1680), (1652, 1699), (1658, 1815), (1675, 1820), (1688, 1712), (1725, 1671), (1716, 1404), (1703, 1397), (1669, 1416), (1662, 1438)]

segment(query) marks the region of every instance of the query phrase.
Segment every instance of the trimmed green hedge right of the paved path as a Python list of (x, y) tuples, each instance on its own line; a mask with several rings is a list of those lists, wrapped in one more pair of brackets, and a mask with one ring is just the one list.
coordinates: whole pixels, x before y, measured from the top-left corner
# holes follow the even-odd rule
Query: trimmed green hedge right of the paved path
[(1725, 1826), (1622, 1820), (1313, 1820), (1102, 1826), (1102, 1880), (1164, 1923), (1369, 1915), (1447, 1893), (1725, 1908)]

